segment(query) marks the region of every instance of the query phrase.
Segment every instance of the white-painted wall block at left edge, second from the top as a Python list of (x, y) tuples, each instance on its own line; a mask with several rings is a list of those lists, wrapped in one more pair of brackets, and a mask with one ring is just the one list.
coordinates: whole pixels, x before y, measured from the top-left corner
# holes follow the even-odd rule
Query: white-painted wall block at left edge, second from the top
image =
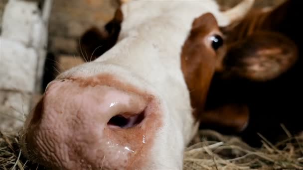
[(32, 48), (0, 37), (0, 88), (33, 92), (37, 61)]

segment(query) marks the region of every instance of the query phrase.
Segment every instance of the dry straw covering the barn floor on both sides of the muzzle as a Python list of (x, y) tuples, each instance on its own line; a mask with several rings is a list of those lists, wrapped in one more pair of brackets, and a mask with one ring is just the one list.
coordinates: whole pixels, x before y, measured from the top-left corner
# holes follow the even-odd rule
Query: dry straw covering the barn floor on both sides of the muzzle
[[(303, 170), (303, 134), (275, 146), (264, 138), (261, 148), (210, 130), (200, 131), (197, 139), (185, 149), (184, 170)], [(18, 137), (0, 133), (0, 170), (44, 169), (24, 158)]]

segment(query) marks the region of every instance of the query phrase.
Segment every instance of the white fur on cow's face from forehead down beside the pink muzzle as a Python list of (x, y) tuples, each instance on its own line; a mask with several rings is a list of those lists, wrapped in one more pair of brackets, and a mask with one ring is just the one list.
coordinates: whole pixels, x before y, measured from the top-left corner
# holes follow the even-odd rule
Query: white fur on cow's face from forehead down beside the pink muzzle
[(164, 111), (148, 169), (181, 170), (183, 148), (196, 133), (187, 86), (180, 69), (181, 48), (194, 18), (211, 12), (220, 26), (229, 23), (213, 0), (131, 1), (122, 6), (118, 43), (92, 63), (62, 74), (110, 73), (154, 94)]

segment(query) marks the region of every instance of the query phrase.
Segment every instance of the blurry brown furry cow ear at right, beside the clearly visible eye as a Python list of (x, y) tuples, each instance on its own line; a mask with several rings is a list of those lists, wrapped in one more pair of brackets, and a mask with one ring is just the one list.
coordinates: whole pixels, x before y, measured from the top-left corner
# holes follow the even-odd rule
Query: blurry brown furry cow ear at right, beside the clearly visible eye
[(223, 77), (268, 81), (290, 69), (298, 58), (296, 44), (286, 36), (259, 31), (227, 47), (219, 72)]

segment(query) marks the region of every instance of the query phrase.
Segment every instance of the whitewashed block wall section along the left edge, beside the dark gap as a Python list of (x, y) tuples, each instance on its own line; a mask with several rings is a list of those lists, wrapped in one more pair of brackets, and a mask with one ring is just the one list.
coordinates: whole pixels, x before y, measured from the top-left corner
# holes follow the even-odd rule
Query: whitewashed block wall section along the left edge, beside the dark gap
[(16, 132), (40, 92), (52, 0), (8, 0), (0, 34), (0, 130)]

